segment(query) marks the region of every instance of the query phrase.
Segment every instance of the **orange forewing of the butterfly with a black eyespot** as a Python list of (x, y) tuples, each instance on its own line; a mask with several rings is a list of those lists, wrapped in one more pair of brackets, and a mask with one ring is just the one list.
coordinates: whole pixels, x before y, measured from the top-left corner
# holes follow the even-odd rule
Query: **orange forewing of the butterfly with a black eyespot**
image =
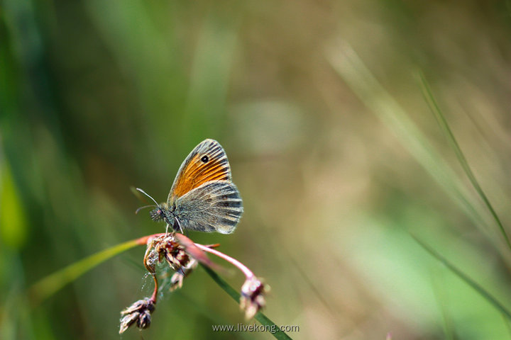
[(231, 181), (231, 166), (224, 148), (216, 140), (204, 140), (182, 162), (167, 202), (209, 181)]

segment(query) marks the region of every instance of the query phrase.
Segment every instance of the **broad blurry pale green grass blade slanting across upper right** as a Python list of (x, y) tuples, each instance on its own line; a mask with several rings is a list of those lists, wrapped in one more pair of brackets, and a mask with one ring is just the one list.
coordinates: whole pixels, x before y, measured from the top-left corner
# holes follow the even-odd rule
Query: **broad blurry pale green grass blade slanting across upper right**
[(472, 193), (353, 48), (342, 42), (331, 45), (326, 50), (326, 57), (353, 93), (394, 133), (402, 146), (473, 220), (474, 225), (492, 242), (499, 243), (500, 237), (496, 239), (493, 228), (489, 227), (485, 214), (481, 211), (482, 207)]

